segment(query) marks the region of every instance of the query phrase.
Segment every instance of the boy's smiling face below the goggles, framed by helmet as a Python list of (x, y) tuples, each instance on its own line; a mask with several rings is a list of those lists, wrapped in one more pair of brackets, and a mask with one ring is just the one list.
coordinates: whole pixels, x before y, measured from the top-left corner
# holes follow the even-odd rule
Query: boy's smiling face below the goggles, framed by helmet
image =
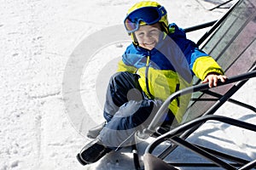
[(159, 42), (161, 34), (160, 24), (156, 23), (151, 26), (140, 26), (139, 30), (134, 33), (139, 46), (151, 50)]

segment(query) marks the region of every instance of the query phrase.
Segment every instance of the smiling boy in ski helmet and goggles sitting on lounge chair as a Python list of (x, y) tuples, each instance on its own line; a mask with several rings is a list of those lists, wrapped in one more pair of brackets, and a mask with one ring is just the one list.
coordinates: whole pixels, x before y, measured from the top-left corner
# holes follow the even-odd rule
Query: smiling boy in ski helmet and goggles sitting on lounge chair
[[(78, 154), (83, 165), (111, 150), (131, 145), (137, 130), (147, 127), (162, 102), (199, 77), (209, 87), (224, 82), (224, 72), (212, 57), (188, 40), (182, 29), (168, 24), (166, 9), (156, 2), (136, 3), (125, 18), (132, 43), (111, 77), (101, 133)], [(176, 99), (162, 122), (182, 122), (187, 99)]]

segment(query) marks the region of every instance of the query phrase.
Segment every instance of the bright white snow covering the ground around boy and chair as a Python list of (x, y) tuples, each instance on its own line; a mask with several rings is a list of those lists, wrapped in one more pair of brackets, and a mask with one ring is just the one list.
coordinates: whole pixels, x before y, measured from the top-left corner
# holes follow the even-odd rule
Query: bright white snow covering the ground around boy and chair
[[(75, 156), (90, 139), (79, 133), (69, 117), (70, 112), (67, 114), (62, 88), (68, 59), (79, 43), (102, 29), (121, 25), (127, 9), (137, 2), (0, 1), (0, 170), (134, 169), (131, 154), (124, 150), (108, 154), (86, 167), (79, 164)], [(207, 8), (216, 4), (203, 0), (158, 2), (166, 7), (169, 22), (183, 28), (217, 20), (227, 11), (226, 8), (209, 11)], [(196, 42), (205, 31), (196, 31), (188, 37)], [(106, 44), (86, 63), (79, 93), (84, 109), (96, 123), (103, 121), (104, 92), (114, 66), (103, 76), (99, 73), (106, 64), (115, 65), (110, 61), (120, 57), (126, 45), (127, 42)], [(234, 99), (255, 105), (253, 82), (255, 80), (247, 82)], [(96, 90), (96, 83), (103, 88)], [(218, 114), (256, 121), (253, 112), (231, 104), (221, 107)], [(201, 134), (204, 135), (199, 137)], [(218, 137), (213, 136), (216, 134)], [(253, 160), (256, 159), (255, 137), (254, 133), (245, 130), (209, 122), (190, 140), (213, 148), (219, 145), (230, 154)], [(139, 148), (140, 156), (145, 146)], [(177, 150), (172, 155), (172, 161), (179, 159), (198, 160), (184, 150)]]

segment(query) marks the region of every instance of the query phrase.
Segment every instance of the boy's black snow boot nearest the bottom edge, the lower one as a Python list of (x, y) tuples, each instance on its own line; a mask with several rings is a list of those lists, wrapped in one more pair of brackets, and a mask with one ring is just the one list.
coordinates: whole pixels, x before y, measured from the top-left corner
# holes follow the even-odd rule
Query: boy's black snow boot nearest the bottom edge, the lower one
[(86, 165), (100, 160), (110, 151), (110, 148), (101, 144), (98, 139), (94, 139), (89, 144), (84, 146), (84, 148), (77, 155), (77, 159), (82, 165)]

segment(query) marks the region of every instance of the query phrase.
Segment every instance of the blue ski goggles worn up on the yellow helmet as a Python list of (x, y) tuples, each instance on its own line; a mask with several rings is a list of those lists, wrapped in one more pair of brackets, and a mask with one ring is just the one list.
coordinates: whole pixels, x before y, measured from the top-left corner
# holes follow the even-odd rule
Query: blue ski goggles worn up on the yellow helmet
[(125, 29), (128, 33), (137, 31), (141, 21), (145, 22), (147, 25), (153, 25), (165, 14), (167, 14), (167, 12), (164, 7), (137, 8), (125, 17)]

